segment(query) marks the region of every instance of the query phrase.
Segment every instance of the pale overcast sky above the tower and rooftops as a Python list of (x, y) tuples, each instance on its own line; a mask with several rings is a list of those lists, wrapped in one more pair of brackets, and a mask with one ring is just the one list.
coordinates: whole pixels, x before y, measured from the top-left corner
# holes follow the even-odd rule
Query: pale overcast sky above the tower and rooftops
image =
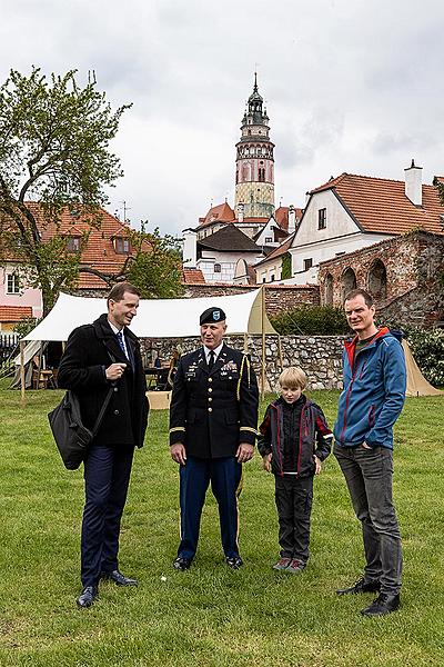
[(110, 212), (179, 233), (233, 206), (235, 149), (258, 69), (276, 206), (343, 171), (444, 173), (443, 0), (0, 0), (0, 80), (94, 70), (124, 178)]

